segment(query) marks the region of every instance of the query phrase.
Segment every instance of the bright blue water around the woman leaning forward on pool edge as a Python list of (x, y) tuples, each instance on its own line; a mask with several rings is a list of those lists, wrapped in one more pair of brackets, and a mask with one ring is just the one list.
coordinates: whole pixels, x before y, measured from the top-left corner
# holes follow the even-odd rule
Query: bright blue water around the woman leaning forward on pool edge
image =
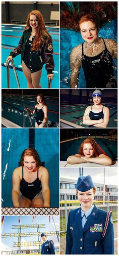
[[(51, 207), (59, 206), (58, 134), (58, 129), (35, 130), (35, 149), (49, 172)], [(28, 147), (29, 129), (2, 129), (2, 207), (13, 207), (11, 197), (13, 170), (19, 166), (21, 154)]]

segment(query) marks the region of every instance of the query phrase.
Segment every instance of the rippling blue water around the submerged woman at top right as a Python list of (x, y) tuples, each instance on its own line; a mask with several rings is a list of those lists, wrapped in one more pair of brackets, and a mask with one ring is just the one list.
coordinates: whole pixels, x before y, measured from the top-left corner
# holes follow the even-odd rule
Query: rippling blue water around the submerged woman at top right
[[(108, 22), (107, 24), (103, 25), (101, 29), (99, 29), (99, 36), (103, 38), (111, 38), (117, 41), (117, 20), (113, 20)], [(82, 44), (84, 40), (79, 32), (74, 30), (69, 30), (66, 28), (61, 28), (60, 34), (60, 48), (61, 48), (61, 88), (70, 88), (70, 76), (71, 76), (71, 69), (70, 69), (70, 54), (74, 47)], [(117, 80), (117, 60), (113, 60), (114, 66), (114, 76)], [(83, 69), (81, 67), (80, 74), (79, 74), (79, 88), (85, 88), (85, 76)]]

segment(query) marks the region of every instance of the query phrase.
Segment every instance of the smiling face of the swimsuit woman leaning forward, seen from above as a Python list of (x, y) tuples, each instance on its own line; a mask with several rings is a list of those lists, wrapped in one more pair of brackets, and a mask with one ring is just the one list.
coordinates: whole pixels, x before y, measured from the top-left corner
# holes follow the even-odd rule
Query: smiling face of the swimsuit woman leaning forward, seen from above
[(24, 156), (24, 167), (28, 172), (33, 172), (33, 170), (36, 168), (36, 160), (33, 158), (33, 156)]

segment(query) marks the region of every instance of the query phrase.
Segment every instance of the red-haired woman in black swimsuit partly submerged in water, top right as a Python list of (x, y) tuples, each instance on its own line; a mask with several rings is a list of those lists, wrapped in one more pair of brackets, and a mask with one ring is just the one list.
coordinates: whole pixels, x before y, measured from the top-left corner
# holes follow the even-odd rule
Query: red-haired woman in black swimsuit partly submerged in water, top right
[(78, 86), (81, 66), (86, 88), (117, 88), (113, 74), (113, 59), (117, 59), (116, 41), (98, 36), (99, 22), (96, 15), (81, 17), (78, 28), (84, 42), (73, 48), (70, 55), (71, 88)]

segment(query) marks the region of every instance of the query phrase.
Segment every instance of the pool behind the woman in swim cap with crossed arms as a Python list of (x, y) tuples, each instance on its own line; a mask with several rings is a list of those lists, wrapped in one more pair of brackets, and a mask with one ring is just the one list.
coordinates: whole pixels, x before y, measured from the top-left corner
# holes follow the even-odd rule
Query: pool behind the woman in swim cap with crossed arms
[[(109, 108), (110, 118), (107, 127), (117, 127), (117, 104), (107, 103), (103, 104)], [(85, 109), (92, 104), (75, 104), (75, 105), (65, 105), (61, 106), (61, 127), (75, 127), (80, 125), (81, 127), (88, 127), (88, 125), (83, 124), (83, 115)], [(78, 126), (77, 126), (78, 127)]]

